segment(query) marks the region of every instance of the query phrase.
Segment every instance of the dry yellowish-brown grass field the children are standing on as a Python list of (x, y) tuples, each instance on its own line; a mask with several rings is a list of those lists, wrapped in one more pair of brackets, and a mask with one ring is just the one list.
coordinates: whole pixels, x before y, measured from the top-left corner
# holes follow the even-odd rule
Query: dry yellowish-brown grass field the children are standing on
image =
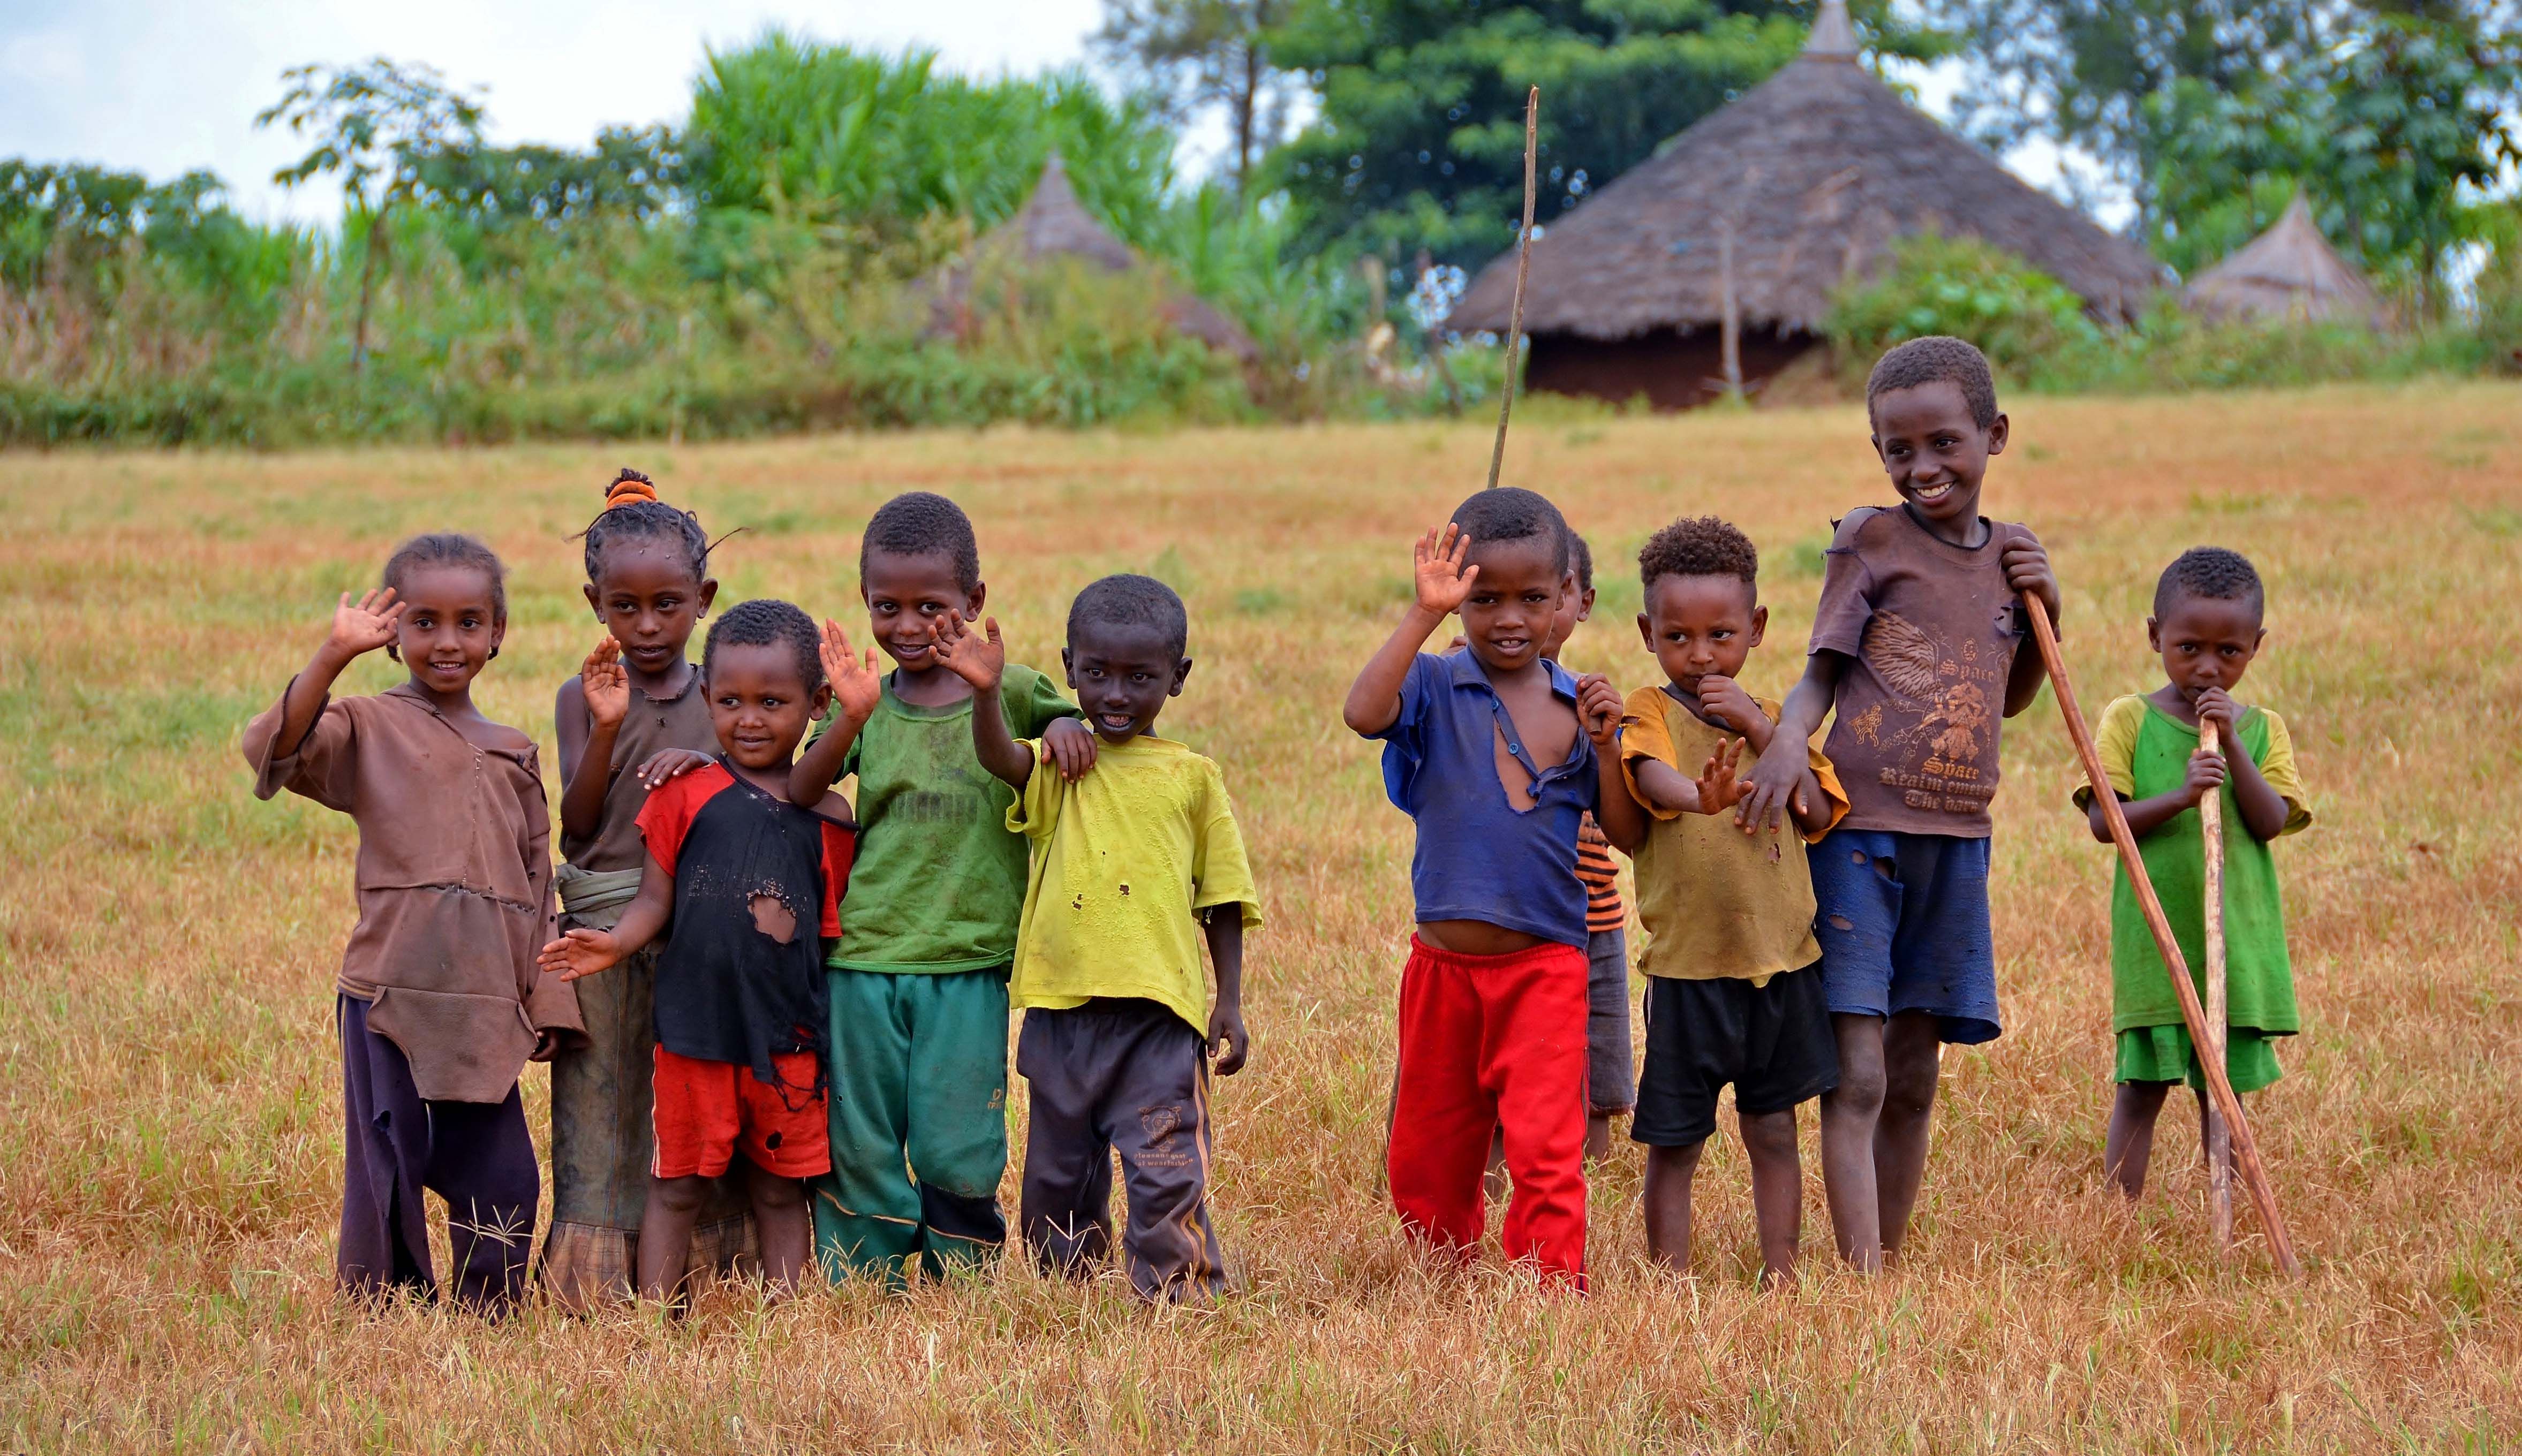
[[(2048, 699), (2008, 732), (1997, 795), (2008, 1032), (1944, 1060), (1904, 1272), (1826, 1257), (1811, 1113), (1796, 1289), (1753, 1289), (1740, 1151), (1702, 1166), (1690, 1279), (1644, 1264), (1634, 1146), (1594, 1183), (1591, 1300), (1407, 1257), (1380, 1163), (1407, 825), (1337, 704), (1407, 596), (1410, 535), (1480, 479), (1475, 421), (20, 454), (0, 469), (0, 1448), (2522, 1443), (2522, 391), (2038, 399), (2015, 424), (1990, 510), (2055, 553), (2091, 712), (2159, 681), (2141, 621), (2179, 548), (2242, 548), (2272, 585), (2242, 696), (2292, 722), (2320, 820), (2280, 850), (2308, 1030), (2252, 1113), (2300, 1284), (2257, 1244), (2217, 1264), (2187, 1115), (2166, 1113), (2141, 1206), (2103, 1191), (2108, 863), (2066, 807)], [(905, 487), (971, 510), (1026, 661), (1054, 659), (1097, 573), (1183, 588), (1198, 671), (1165, 722), (1226, 765), (1269, 901), (1253, 1067), (1216, 1095), (1241, 1295), (1148, 1312), (1009, 1264), (782, 1307), (721, 1287), (686, 1322), (333, 1302), (351, 825), (255, 802), (237, 729), (396, 537), (464, 527), (514, 568), (484, 707), (550, 765), (552, 689), (593, 641), (565, 537), (620, 459), (749, 527), (721, 601), (850, 621), (857, 525)], [(1652, 527), (1717, 510), (1760, 543), (1775, 618), (1748, 676), (1778, 691), (1828, 520), (1884, 497), (1851, 409), (1536, 409), (1508, 479), (1591, 535), (1604, 611), (1569, 659), (1622, 686), (1652, 666), (1627, 626)], [(363, 659), (346, 686), (396, 676)]]

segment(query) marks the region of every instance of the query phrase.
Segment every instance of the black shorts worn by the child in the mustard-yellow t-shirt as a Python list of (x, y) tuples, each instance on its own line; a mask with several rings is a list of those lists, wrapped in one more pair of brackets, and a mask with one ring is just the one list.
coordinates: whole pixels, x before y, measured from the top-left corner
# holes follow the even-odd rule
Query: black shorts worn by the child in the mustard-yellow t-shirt
[(1690, 1148), (1717, 1130), (1717, 1093), (1743, 1113), (1783, 1113), (1839, 1085), (1839, 1042), (1821, 966), (1750, 982), (1647, 977), (1647, 1070), (1629, 1138)]

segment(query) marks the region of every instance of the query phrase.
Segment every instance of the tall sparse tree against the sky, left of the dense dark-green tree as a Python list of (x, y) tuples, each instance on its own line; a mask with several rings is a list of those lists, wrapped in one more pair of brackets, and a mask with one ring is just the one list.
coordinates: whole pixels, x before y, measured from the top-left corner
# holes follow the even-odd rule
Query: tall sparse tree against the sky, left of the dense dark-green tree
[(1269, 30), (1291, 0), (1105, 0), (1095, 48), (1165, 103), (1183, 124), (1211, 106), (1233, 134), (1228, 182), (1251, 192), (1253, 159), (1286, 131), (1291, 86), (1269, 61)]

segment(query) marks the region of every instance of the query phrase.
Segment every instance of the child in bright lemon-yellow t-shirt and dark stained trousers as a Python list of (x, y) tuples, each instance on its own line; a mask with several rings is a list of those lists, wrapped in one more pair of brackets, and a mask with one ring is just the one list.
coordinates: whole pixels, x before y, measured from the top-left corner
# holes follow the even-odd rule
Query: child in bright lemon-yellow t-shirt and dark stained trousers
[(1107, 575), (1077, 593), (1059, 661), (1097, 737), (1077, 782), (1034, 772), (1042, 747), (1006, 732), (996, 621), (976, 636), (951, 618), (936, 646), (973, 686), (973, 749), (1016, 785), (1006, 828), (1034, 840), (1006, 984), (1024, 1007), (1016, 1070), (1031, 1088), (1024, 1242), (1052, 1269), (1102, 1262), (1117, 1148), (1130, 1181), (1122, 1264), (1148, 1300), (1226, 1287), (1208, 1221), (1208, 1057), (1221, 1077), (1243, 1067), (1243, 929), (1261, 924), (1218, 765), (1153, 732), (1190, 676), (1188, 631), (1183, 598), (1155, 578)]

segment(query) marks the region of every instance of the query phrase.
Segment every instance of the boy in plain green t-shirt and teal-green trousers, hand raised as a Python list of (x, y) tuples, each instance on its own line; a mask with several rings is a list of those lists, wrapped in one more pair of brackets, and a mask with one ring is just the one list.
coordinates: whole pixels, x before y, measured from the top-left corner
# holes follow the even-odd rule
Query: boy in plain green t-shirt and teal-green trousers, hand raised
[[(1006, 1242), (1006, 972), (1024, 908), (1016, 795), (971, 749), (973, 691), (936, 651), (948, 621), (981, 613), (981, 550), (943, 495), (908, 492), (857, 548), (875, 674), (840, 626), (822, 664), (837, 714), (799, 754), (789, 797), (815, 802), (857, 775), (857, 863), (827, 961), (832, 992), (832, 1171), (815, 1178), (815, 1254), (832, 1277), (931, 1274)], [(1047, 676), (1006, 669), (1006, 729), (1039, 737), (1064, 777), (1095, 734)], [(908, 1171), (905, 1171), (908, 1161)]]

